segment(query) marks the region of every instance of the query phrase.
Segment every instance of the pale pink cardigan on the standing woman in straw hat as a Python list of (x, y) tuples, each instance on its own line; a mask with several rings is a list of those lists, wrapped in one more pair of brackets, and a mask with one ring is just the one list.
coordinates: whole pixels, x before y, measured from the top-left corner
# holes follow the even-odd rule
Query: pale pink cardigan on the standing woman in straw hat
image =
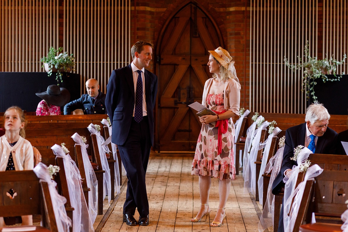
[[(209, 78), (204, 85), (202, 105), (205, 107), (207, 107), (206, 99), (213, 80), (214, 78)], [(230, 110), (236, 115), (239, 115), (239, 102), (240, 84), (234, 79), (228, 79), (223, 90), (223, 106), (225, 110)]]

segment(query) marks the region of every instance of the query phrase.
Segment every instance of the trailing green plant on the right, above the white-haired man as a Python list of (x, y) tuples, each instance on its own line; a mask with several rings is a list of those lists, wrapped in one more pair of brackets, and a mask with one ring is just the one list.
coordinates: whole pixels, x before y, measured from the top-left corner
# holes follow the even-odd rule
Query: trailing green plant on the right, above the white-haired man
[[(336, 68), (337, 65), (341, 65), (345, 62), (347, 56), (346, 54), (344, 54), (341, 61), (333, 59), (333, 56), (331, 56), (329, 59), (327, 58), (327, 55), (324, 59), (318, 59), (317, 57), (311, 57), (309, 55), (308, 46), (309, 42), (307, 41), (306, 45), (304, 46), (304, 58), (302, 59), (300, 56), (297, 56), (297, 58), (299, 59), (298, 64), (290, 64), (285, 56), (284, 62), (285, 65), (294, 72), (303, 68), (304, 76), (302, 77), (302, 91), (307, 87), (307, 98), (310, 98), (311, 95), (313, 101), (316, 101), (317, 97), (315, 96), (314, 92), (314, 86), (317, 84), (316, 79), (322, 79), (324, 83), (326, 81), (340, 80), (344, 72), (342, 72), (340, 75), (337, 75)], [(334, 78), (327, 77), (327, 74), (333, 74)]]

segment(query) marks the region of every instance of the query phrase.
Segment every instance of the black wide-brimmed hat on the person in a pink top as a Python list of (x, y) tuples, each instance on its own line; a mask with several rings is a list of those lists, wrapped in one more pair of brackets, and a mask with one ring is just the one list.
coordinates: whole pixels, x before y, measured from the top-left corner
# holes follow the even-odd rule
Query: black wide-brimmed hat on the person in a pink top
[(36, 93), (36, 95), (44, 99), (48, 104), (56, 106), (64, 106), (70, 100), (69, 90), (59, 88), (57, 85), (50, 85), (47, 87), (47, 91)]

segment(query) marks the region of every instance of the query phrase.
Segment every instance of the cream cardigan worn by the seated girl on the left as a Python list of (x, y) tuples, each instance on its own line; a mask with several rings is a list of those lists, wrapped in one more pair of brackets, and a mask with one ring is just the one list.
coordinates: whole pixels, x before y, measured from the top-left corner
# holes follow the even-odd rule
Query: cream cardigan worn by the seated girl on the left
[(29, 141), (19, 136), (18, 142), (11, 147), (5, 135), (0, 137), (0, 171), (5, 171), (10, 152), (16, 171), (32, 170), (34, 168), (33, 147)]

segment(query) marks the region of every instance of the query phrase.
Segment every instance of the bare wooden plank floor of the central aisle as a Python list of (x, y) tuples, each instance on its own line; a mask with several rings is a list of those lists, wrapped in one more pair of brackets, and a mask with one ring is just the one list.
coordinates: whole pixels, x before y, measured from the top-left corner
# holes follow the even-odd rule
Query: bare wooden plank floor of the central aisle
[[(211, 214), (198, 223), (189, 220), (196, 216), (199, 207), (198, 177), (191, 175), (193, 154), (151, 153), (146, 175), (147, 193), (150, 206), (149, 226), (128, 226), (122, 222), (123, 203), (126, 197), (127, 177), (121, 193), (108, 207), (104, 201), (104, 215), (99, 215), (94, 223), (96, 232), (147, 231), (147, 232), (187, 232), (187, 231), (258, 231), (260, 205), (248, 191), (244, 192), (242, 175), (231, 184), (226, 205), (226, 219), (221, 227), (213, 228), (213, 221), (219, 205), (219, 183), (212, 179), (209, 194)], [(125, 171), (122, 172), (125, 174)], [(139, 218), (139, 213), (134, 217)]]

